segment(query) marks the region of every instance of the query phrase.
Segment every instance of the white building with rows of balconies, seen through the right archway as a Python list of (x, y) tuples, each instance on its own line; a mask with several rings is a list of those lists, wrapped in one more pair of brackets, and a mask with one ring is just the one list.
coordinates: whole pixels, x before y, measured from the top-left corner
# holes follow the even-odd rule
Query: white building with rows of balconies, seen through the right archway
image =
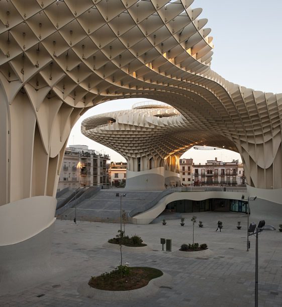
[(245, 185), (246, 177), (239, 160), (223, 162), (207, 160), (205, 165), (193, 163), (194, 185)]

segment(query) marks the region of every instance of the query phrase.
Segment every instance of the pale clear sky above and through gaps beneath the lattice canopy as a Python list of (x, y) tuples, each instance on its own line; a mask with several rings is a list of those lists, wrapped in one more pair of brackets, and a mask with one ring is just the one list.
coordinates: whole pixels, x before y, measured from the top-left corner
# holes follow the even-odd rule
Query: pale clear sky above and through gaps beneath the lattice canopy
[[(209, 21), (215, 45), (211, 68), (225, 79), (265, 92), (282, 92), (282, 0), (195, 0), (192, 8), (202, 8), (200, 18)], [(115, 151), (91, 141), (80, 133), (82, 120), (92, 115), (131, 109), (144, 98), (109, 101), (86, 112), (73, 127), (68, 145), (88, 145), (107, 153), (111, 161), (125, 159)], [(199, 151), (190, 149), (182, 157), (195, 163), (208, 159), (232, 161), (240, 155), (229, 150)]]

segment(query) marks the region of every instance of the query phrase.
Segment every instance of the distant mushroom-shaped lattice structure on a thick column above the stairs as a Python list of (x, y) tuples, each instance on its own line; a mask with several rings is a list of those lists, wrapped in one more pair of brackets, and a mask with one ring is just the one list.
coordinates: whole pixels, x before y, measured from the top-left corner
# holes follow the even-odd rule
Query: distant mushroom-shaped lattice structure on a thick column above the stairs
[(169, 105), (148, 102), (93, 116), (82, 122), (81, 132), (125, 157), (127, 189), (162, 190), (180, 184), (179, 157), (191, 140), (183, 132), (181, 114)]

